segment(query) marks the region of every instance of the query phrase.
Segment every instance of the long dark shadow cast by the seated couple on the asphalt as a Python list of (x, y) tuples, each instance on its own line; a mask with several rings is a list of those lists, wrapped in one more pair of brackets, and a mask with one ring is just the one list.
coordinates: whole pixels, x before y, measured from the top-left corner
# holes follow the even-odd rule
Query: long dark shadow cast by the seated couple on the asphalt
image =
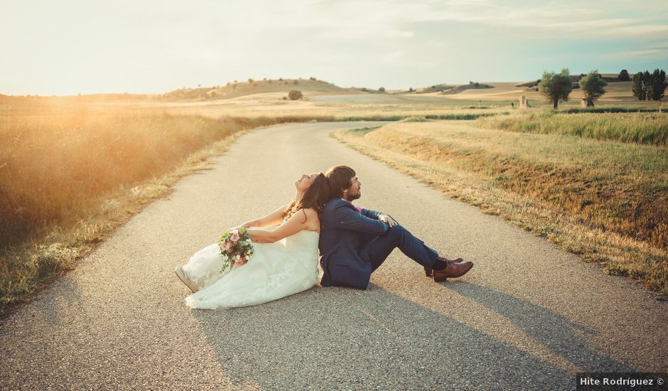
[[(578, 368), (635, 371), (554, 311), (466, 282), (454, 291), (508, 318)], [(575, 377), (391, 291), (316, 286), (260, 306), (193, 310), (236, 385), (267, 389), (572, 389)]]

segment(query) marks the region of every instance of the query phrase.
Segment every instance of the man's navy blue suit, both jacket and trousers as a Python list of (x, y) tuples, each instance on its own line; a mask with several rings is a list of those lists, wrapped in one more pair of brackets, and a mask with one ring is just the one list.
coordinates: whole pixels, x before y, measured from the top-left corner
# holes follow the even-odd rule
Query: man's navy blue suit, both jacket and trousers
[(322, 286), (366, 289), (371, 273), (399, 247), (406, 256), (431, 267), (438, 253), (401, 225), (389, 227), (378, 220), (382, 213), (362, 209), (341, 198), (329, 200), (320, 213)]

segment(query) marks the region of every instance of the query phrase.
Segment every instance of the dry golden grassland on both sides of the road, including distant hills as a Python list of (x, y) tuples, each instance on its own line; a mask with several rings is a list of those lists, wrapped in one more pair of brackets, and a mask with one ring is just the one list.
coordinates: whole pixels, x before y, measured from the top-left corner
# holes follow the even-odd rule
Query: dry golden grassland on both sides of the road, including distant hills
[[(311, 120), (403, 119), (339, 136), (389, 151), (389, 164), (446, 193), (665, 291), (666, 114), (519, 112), (510, 103), (521, 95), (534, 107), (549, 103), (517, 83), (443, 95), (296, 81), (166, 95), (0, 95), (0, 307), (72, 267), (235, 135)], [(292, 89), (303, 100), (284, 100)], [(608, 90), (598, 107), (658, 106), (634, 100), (630, 83)]]

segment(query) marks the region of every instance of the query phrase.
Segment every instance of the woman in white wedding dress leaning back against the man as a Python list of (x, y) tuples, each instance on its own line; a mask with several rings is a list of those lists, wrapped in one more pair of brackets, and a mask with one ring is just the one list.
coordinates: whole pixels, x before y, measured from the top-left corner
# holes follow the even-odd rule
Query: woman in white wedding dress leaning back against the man
[(318, 283), (318, 215), (329, 199), (327, 178), (323, 173), (303, 174), (294, 184), (296, 195), (290, 205), (241, 225), (248, 228), (254, 250), (247, 263), (221, 273), (222, 257), (214, 243), (176, 267), (178, 278), (193, 291), (185, 298), (188, 306), (253, 306)]

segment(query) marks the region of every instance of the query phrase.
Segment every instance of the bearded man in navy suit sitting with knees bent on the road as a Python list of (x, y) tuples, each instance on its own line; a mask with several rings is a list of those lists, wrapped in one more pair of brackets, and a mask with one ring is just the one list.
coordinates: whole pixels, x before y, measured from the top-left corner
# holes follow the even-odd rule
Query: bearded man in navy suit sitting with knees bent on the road
[(473, 267), (473, 262), (461, 262), (461, 258), (439, 257), (389, 215), (352, 205), (362, 195), (362, 183), (352, 168), (334, 166), (325, 176), (333, 198), (320, 214), (322, 286), (366, 289), (371, 273), (395, 247), (421, 264), (427, 276), (433, 270), (436, 282), (461, 277)]

